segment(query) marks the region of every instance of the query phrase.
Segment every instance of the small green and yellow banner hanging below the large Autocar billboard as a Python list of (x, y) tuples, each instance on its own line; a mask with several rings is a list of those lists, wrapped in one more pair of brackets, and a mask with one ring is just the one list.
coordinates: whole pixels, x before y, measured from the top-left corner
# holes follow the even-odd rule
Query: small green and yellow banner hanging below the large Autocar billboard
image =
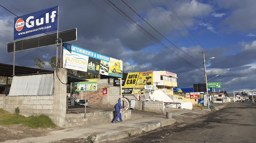
[[(97, 91), (97, 79), (86, 79), (87, 82), (76, 82), (77, 90), (76, 91)], [(87, 83), (87, 84), (86, 84)]]

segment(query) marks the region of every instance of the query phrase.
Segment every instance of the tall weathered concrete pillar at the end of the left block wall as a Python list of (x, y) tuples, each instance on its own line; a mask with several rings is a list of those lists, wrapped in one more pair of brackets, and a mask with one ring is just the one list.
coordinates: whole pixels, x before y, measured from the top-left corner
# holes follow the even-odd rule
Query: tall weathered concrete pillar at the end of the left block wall
[(54, 70), (53, 121), (59, 127), (64, 127), (65, 118), (66, 118), (67, 85), (64, 83), (67, 83), (67, 69), (64, 69), (64, 68), (55, 69)]

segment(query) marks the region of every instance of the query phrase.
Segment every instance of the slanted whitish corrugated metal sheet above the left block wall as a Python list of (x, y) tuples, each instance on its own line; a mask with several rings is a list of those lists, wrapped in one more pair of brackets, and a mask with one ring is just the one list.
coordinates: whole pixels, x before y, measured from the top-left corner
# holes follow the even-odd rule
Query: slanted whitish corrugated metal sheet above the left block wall
[(9, 96), (52, 95), (54, 74), (13, 76)]

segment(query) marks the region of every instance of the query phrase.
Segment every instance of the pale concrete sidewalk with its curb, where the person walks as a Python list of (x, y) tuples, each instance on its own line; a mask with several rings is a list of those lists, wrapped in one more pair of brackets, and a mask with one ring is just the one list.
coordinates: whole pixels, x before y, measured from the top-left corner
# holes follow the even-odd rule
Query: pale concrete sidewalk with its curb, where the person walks
[[(215, 104), (215, 109), (219, 110), (226, 106), (225, 104)], [(92, 107), (92, 109), (102, 110), (104, 107)], [(88, 109), (90, 110), (90, 109)], [(108, 110), (108, 108), (106, 109)], [(110, 109), (109, 109), (110, 110)], [(126, 138), (128, 136), (133, 136), (135, 134), (142, 134), (143, 132), (148, 132), (155, 130), (160, 127), (171, 125), (175, 122), (185, 122), (195, 118), (200, 118), (212, 112), (209, 109), (173, 109), (165, 108), (164, 114), (156, 114), (152, 112), (142, 112), (138, 110), (132, 110), (132, 118), (126, 121), (118, 123), (101, 123), (96, 125), (91, 125), (87, 127), (74, 127), (67, 128), (63, 130), (54, 130), (49, 132), (46, 136), (40, 136), (36, 138), (25, 138), (20, 140), (8, 140), (7, 143), (49, 143), (53, 141), (60, 141), (62, 139), (68, 138), (84, 138), (96, 134), (93, 138), (94, 143), (104, 142), (104, 141), (114, 141), (116, 139)], [(172, 114), (172, 119), (166, 118), (166, 112)]]

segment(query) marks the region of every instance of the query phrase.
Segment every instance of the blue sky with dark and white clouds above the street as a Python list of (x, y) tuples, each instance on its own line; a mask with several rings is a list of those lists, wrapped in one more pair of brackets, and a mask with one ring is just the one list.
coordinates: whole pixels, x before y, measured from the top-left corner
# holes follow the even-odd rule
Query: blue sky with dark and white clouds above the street
[[(1, 0), (17, 16), (59, 6), (59, 31), (77, 28), (73, 45), (123, 60), (124, 72), (169, 71), (178, 87), (208, 82), (222, 90), (256, 88), (256, 1), (254, 0)], [(0, 62), (13, 64), (15, 15), (0, 7)], [(59, 52), (60, 53), (60, 52)], [(56, 46), (15, 53), (15, 65), (52, 70)], [(60, 54), (59, 54), (60, 57)], [(37, 68), (37, 67), (36, 67)], [(230, 85), (230, 86), (229, 86)], [(255, 89), (256, 91), (256, 89)]]

